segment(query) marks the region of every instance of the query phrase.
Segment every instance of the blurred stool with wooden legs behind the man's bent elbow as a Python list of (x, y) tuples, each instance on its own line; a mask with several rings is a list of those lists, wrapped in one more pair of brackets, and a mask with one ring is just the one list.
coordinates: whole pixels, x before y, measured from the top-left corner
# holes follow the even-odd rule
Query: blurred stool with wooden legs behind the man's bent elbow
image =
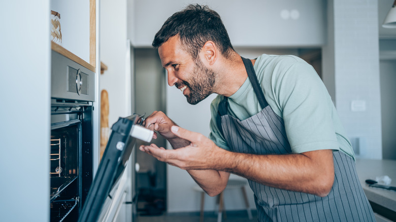
[[(242, 194), (243, 194), (243, 198), (245, 200), (245, 205), (246, 205), (246, 210), (249, 216), (249, 219), (252, 219), (252, 212), (250, 211), (250, 206), (249, 206), (249, 201), (247, 198), (247, 194), (246, 194), (246, 190), (245, 190), (245, 186), (247, 184), (247, 180), (241, 180), (241, 179), (229, 179), (227, 182), (227, 187), (225, 187), (225, 190), (229, 190), (229, 189), (241, 189), (242, 190)], [(200, 192), (201, 193), (201, 213), (200, 213), (200, 221), (203, 222), (204, 221), (204, 204), (205, 204), (205, 191), (198, 186), (197, 184), (193, 187), (193, 190)], [(224, 208), (224, 191), (221, 192), (219, 195), (217, 195), (217, 202), (219, 205), (219, 210), (217, 213), (217, 222), (221, 222), (221, 218), (222, 218), (222, 212), (223, 212), (223, 208)]]

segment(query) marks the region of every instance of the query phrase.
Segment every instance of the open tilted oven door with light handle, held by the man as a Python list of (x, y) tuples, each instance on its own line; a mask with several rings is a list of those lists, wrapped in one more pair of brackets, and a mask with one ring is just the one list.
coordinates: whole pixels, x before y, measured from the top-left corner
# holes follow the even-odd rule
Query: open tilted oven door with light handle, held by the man
[[(139, 126), (143, 120), (143, 116), (134, 114), (119, 118), (113, 124), (106, 150), (78, 221), (108, 221), (114, 216), (112, 214), (117, 213), (120, 207), (117, 204), (122, 202), (120, 200), (125, 195), (123, 188), (126, 186), (126, 175), (123, 172), (136, 138), (146, 141), (152, 138), (152, 131)], [(142, 132), (145, 138), (141, 137)]]

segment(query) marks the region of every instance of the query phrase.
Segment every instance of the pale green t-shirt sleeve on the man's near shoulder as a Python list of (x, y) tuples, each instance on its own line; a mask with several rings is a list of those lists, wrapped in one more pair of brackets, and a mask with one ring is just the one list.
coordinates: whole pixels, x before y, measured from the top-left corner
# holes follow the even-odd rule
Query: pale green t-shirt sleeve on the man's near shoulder
[(313, 67), (297, 61), (273, 81), (291, 151), (339, 150), (331, 97)]

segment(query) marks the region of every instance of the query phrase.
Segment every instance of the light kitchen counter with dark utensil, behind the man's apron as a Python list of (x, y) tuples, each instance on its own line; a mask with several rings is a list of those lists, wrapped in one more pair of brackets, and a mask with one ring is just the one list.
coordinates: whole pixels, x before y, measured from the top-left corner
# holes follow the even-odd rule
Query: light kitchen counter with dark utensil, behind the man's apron
[[(381, 211), (385, 211), (388, 218), (390, 213), (391, 219), (396, 219), (393, 218), (396, 215), (396, 192), (371, 188), (365, 182), (366, 179), (388, 175), (392, 179), (390, 186), (396, 187), (396, 161), (356, 159), (356, 171), (367, 199), (372, 205), (374, 203)], [(373, 206), (374, 211), (376, 211), (375, 206)]]

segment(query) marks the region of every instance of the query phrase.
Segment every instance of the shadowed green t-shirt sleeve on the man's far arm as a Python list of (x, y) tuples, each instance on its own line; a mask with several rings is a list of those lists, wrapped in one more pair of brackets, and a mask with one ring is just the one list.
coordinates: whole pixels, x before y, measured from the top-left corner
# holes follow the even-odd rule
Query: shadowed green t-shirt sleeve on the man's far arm
[(211, 139), (217, 146), (221, 147), (224, 150), (229, 151), (227, 142), (225, 141), (223, 134), (220, 132), (220, 129), (218, 128), (216, 122), (216, 118), (219, 118), (217, 114), (218, 105), (222, 98), (223, 98), (222, 96), (216, 96), (216, 98), (210, 104), (210, 113), (212, 118), (209, 124), (209, 128), (210, 128), (209, 139)]

